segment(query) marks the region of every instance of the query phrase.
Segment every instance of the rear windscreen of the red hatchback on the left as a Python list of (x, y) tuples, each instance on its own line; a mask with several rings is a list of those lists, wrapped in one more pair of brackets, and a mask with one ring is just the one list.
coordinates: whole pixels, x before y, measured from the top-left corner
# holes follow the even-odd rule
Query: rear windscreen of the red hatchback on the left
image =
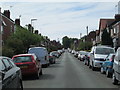
[(18, 56), (18, 57), (14, 57), (13, 61), (15, 63), (32, 62), (32, 59), (31, 56)]

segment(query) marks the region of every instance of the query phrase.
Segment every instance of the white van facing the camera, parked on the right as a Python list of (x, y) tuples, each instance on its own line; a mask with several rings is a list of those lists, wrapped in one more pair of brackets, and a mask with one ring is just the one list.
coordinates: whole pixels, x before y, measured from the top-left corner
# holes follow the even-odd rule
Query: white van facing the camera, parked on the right
[(90, 52), (90, 65), (92, 70), (96, 68), (101, 68), (102, 63), (105, 61), (105, 58), (110, 54), (115, 53), (115, 50), (108, 46), (94, 46)]

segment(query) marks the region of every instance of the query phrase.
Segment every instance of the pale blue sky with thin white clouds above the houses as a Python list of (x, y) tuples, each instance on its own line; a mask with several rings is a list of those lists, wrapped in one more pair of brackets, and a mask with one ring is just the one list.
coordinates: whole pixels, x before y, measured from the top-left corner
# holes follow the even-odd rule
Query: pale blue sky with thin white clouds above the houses
[(0, 2), (2, 12), (10, 10), (11, 19), (20, 17), (21, 26), (31, 23), (51, 40), (62, 40), (64, 36), (80, 38), (88, 30), (99, 28), (100, 18), (114, 18), (117, 13), (117, 1), (108, 2)]

